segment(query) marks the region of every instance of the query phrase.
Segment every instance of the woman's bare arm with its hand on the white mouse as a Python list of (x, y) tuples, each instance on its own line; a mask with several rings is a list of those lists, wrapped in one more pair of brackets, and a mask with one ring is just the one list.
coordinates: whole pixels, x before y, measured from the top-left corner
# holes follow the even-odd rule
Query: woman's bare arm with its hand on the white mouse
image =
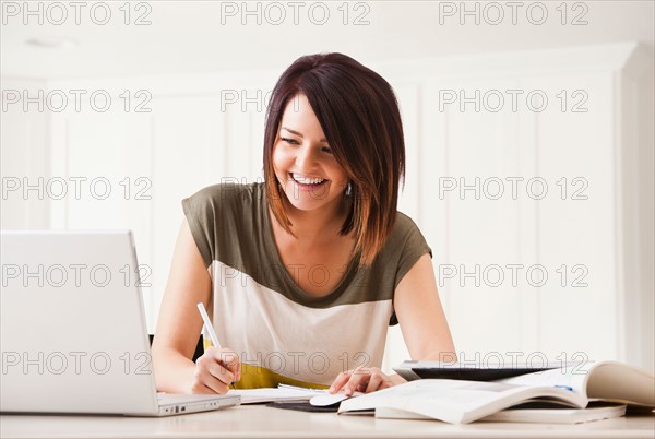
[[(432, 259), (424, 254), (396, 286), (394, 309), (412, 359), (456, 361), (453, 339), (439, 300)], [(379, 368), (358, 368), (340, 373), (331, 392), (373, 392), (404, 382)]]

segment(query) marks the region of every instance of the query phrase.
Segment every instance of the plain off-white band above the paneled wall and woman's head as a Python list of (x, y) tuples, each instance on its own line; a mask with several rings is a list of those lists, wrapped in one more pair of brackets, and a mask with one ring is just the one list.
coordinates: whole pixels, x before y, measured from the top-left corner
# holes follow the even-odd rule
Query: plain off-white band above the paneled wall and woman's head
[[(111, 12), (102, 24), (105, 8), (97, 8), (98, 21), (91, 13), (92, 2), (84, 3), (78, 15), (74, 4), (66, 1), (48, 13), (48, 3), (3, 3), (11, 12), (3, 15), (0, 28), (2, 76), (282, 70), (301, 55), (325, 50), (342, 51), (366, 63), (390, 59), (402, 63), (420, 57), (619, 41), (639, 41), (653, 50), (655, 44), (655, 3), (643, 0), (167, 0), (130, 2), (127, 8), (121, 2), (104, 2), (99, 5), (108, 5)], [(26, 15), (27, 10), (36, 13)], [(63, 23), (58, 20), (61, 11), (67, 13)], [(282, 22), (276, 20), (279, 12), (285, 14)], [(73, 47), (26, 44), (35, 38), (64, 39)]]

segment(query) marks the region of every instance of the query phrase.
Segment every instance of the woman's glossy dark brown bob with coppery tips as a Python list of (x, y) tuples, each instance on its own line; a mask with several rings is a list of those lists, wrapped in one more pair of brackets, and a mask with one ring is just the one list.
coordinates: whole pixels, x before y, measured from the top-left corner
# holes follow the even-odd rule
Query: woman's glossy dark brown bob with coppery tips
[[(271, 210), (290, 234), (273, 168), (273, 149), (287, 104), (307, 96), (336, 162), (352, 185), (342, 235), (355, 232), (354, 254), (370, 265), (391, 235), (398, 186), (405, 174), (405, 141), (395, 94), (378, 73), (343, 54), (298, 58), (279, 78), (266, 110), (264, 180)], [(288, 201), (288, 200), (286, 200)]]

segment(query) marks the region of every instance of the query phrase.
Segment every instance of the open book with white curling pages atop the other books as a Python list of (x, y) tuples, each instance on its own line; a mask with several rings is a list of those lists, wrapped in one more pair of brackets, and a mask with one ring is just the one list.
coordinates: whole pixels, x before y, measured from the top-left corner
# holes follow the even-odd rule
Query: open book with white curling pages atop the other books
[(338, 413), (376, 411), (378, 416), (464, 424), (526, 402), (585, 408), (594, 400), (653, 408), (655, 377), (622, 363), (599, 361), (497, 381), (422, 379), (346, 400)]

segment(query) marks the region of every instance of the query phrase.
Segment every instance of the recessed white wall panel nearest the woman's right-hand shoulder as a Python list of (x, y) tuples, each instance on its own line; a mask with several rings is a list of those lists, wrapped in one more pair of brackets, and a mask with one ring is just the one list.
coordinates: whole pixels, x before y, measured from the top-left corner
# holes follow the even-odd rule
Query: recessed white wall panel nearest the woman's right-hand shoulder
[[(434, 191), (433, 199), (445, 220), (444, 229), (439, 232), (448, 235), (448, 253), (438, 275), (442, 289), (450, 294), (450, 320), (458, 349), (474, 353), (473, 358), (476, 353), (484, 358), (489, 351), (525, 349), (520, 321), (509, 318), (521, 316), (525, 288), (511, 286), (507, 266), (529, 258), (519, 254), (519, 242), (526, 238), (516, 233), (522, 200), (509, 197), (507, 188), (507, 177), (520, 173), (515, 157), (523, 145), (516, 139), (517, 114), (508, 105), (489, 112), (484, 106), (476, 108), (475, 103), (462, 108), (460, 102), (461, 96), (475, 96), (476, 91), (483, 96), (489, 90), (515, 90), (516, 85), (504, 79), (436, 81), (432, 91), (437, 93), (429, 97), (439, 104), (440, 92), (442, 96), (444, 90), (458, 94), (457, 103), (442, 104), (442, 111), (439, 105), (436, 108), (437, 115), (445, 119), (446, 139), (441, 147), (445, 149), (446, 169), (440, 174), (445, 176), (442, 192)], [(449, 183), (456, 187), (446, 192)], [(492, 199), (501, 189), (503, 195)], [(499, 286), (491, 286), (496, 283)], [(490, 330), (497, 334), (492, 349), (481, 336)]]

